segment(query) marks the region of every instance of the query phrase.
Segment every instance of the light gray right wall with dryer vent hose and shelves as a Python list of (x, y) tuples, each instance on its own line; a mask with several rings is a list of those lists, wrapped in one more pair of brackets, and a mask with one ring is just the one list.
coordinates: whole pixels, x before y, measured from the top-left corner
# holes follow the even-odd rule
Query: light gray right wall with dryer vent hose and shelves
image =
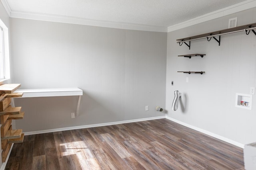
[[(256, 86), (256, 36), (245, 32), (222, 35), (220, 46), (214, 39), (191, 41), (190, 50), (176, 43), (176, 39), (226, 29), (228, 19), (234, 17), (238, 17), (238, 26), (256, 23), (256, 8), (168, 33), (166, 110), (168, 117), (246, 144), (256, 141), (256, 99), (253, 95), (252, 110), (241, 109), (235, 107), (235, 94), (249, 94), (250, 87)], [(206, 56), (177, 57), (194, 53)], [(175, 90), (182, 93), (183, 107), (172, 111)]]

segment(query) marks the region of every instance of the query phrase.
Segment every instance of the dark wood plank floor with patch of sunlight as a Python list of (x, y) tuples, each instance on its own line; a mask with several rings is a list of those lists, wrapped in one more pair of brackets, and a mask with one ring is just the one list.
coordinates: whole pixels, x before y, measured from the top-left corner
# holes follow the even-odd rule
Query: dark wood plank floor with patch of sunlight
[(243, 150), (168, 119), (29, 135), (6, 170), (244, 170)]

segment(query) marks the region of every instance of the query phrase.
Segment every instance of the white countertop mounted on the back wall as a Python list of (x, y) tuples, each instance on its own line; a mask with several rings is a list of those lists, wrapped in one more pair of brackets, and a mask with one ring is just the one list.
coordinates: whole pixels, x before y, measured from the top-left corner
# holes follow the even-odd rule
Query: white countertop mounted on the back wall
[(15, 92), (23, 93), (22, 98), (53, 97), (53, 96), (82, 96), (80, 88), (37, 88), (18, 89)]

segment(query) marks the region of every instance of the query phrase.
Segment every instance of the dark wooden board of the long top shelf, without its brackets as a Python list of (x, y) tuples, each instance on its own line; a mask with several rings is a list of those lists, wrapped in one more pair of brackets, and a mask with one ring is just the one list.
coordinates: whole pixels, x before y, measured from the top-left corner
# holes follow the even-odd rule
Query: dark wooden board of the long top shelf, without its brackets
[(238, 30), (241, 30), (241, 29), (250, 28), (249, 26), (256, 27), (256, 23), (242, 25), (242, 26), (238, 26), (238, 27), (234, 27), (234, 28), (222, 29), (222, 30), (219, 30), (219, 31), (214, 31), (214, 32), (210, 32), (210, 33), (204, 33), (204, 34), (200, 34), (200, 35), (195, 35), (195, 36), (192, 36), (192, 37), (186, 37), (186, 38), (182, 38), (182, 39), (177, 39), (177, 41), (186, 41), (186, 40), (189, 41), (190, 39), (207, 37), (209, 35), (217, 35), (217, 34), (221, 34), (221, 33), (229, 33), (229, 32), (232, 32), (232, 31), (238, 31)]

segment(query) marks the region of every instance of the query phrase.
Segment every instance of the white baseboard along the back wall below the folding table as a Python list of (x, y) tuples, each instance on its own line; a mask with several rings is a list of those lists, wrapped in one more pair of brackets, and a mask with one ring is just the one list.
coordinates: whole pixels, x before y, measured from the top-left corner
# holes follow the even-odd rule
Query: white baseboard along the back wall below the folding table
[(147, 121), (147, 120), (164, 119), (164, 118), (166, 118), (166, 117), (165, 116), (158, 116), (158, 117), (148, 117), (148, 118), (143, 118), (143, 119), (115, 121), (115, 122), (110, 122), (110, 123), (99, 123), (99, 124), (93, 124), (93, 125), (64, 127), (64, 128), (58, 128), (58, 129), (48, 129), (48, 130), (43, 130), (43, 131), (25, 132), (24, 135), (36, 135), (36, 134), (41, 134), (41, 133), (51, 133), (51, 132), (68, 131), (68, 130), (74, 130), (74, 129), (84, 129), (84, 128), (90, 128), (90, 127), (118, 125), (118, 124), (122, 124), (122, 123), (132, 123), (132, 122), (138, 122), (138, 121)]

